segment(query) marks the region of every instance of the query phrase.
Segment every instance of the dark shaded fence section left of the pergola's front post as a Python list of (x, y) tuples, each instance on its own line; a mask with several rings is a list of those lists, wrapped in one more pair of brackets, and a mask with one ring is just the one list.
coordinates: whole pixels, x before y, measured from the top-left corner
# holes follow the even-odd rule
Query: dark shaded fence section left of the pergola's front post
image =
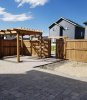
[(0, 57), (13, 56), (17, 54), (16, 40), (0, 40)]

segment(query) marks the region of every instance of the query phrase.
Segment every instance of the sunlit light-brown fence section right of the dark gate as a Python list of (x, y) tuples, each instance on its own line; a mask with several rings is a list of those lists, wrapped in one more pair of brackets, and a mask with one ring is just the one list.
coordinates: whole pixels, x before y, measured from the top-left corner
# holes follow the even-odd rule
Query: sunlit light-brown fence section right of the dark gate
[(66, 40), (65, 59), (87, 62), (87, 40)]

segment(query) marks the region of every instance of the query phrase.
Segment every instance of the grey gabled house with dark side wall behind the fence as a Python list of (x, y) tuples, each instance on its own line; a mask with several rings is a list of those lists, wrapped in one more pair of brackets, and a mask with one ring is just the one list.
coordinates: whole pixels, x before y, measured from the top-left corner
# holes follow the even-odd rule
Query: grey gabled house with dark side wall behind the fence
[(71, 39), (84, 39), (85, 28), (69, 19), (60, 18), (49, 26), (49, 37), (66, 36)]

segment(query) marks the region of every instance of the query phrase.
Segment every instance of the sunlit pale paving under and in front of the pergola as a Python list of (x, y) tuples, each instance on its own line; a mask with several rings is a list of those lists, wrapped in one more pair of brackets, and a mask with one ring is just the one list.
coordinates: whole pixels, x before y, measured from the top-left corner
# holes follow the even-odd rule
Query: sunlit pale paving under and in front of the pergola
[(32, 70), (32, 68), (57, 61), (54, 58), (40, 59), (37, 57), (24, 56), (17, 63), (16, 57), (7, 57), (0, 60), (0, 74), (20, 74)]

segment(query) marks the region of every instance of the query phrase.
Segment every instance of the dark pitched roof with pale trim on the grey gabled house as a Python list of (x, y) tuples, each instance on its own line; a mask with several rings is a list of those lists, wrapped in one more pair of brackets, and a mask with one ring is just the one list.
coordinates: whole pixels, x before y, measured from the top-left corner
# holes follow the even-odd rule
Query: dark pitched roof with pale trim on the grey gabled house
[(51, 29), (56, 24), (59, 24), (62, 20), (65, 20), (65, 21), (67, 21), (68, 23), (71, 23), (74, 26), (78, 26), (78, 27), (82, 27), (83, 28), (83, 26), (79, 25), (78, 23), (76, 23), (76, 22), (74, 22), (74, 21), (72, 21), (70, 19), (63, 18), (63, 17), (61, 17), (58, 21), (56, 21), (55, 23), (53, 23), (52, 25), (50, 25), (49, 28)]

